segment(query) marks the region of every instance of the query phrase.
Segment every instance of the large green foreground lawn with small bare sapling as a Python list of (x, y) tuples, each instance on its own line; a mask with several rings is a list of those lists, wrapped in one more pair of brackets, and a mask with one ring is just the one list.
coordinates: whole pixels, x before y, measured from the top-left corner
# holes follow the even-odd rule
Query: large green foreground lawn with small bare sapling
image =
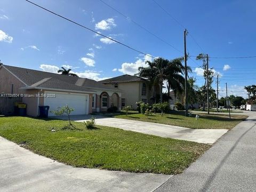
[(210, 148), (105, 126), (87, 130), (76, 122), (70, 129), (67, 124), (55, 119), (0, 117), (0, 135), (69, 165), (129, 172), (181, 173)]

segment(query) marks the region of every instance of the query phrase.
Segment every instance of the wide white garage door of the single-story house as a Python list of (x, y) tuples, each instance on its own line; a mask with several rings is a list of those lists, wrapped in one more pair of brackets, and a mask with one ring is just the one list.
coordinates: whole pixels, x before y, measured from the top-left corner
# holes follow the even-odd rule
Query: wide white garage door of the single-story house
[(89, 95), (88, 94), (75, 94), (75, 93), (58, 93), (58, 92), (45, 92), (45, 94), (55, 94), (55, 98), (45, 97), (44, 105), (50, 106), (49, 108), (49, 116), (53, 116), (50, 111), (56, 110), (57, 107), (63, 107), (68, 105), (73, 108), (74, 111), (71, 115), (84, 115), (88, 114), (88, 102)]

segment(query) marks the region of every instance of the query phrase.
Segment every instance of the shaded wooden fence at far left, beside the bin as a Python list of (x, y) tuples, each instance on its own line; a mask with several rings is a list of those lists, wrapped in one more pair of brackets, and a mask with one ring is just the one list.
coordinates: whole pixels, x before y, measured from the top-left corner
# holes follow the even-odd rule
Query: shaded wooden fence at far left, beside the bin
[(21, 102), (21, 98), (0, 98), (0, 115), (13, 115), (14, 103)]

